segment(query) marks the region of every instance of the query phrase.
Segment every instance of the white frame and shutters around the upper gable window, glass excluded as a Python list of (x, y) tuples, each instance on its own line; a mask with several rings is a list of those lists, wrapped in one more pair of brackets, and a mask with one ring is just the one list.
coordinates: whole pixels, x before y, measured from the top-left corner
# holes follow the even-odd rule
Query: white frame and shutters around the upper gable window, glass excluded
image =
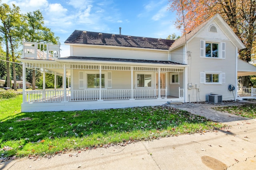
[[(206, 57), (206, 43), (218, 44), (218, 57)], [(226, 43), (219, 41), (205, 41), (200, 40), (200, 57), (206, 59), (225, 59), (226, 55)]]

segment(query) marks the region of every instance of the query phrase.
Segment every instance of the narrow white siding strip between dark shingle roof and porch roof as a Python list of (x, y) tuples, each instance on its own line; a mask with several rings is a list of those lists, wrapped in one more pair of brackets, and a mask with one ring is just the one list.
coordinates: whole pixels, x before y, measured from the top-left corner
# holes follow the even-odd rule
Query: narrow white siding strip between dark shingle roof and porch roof
[(128, 50), (72, 46), (73, 56), (168, 61), (168, 51)]

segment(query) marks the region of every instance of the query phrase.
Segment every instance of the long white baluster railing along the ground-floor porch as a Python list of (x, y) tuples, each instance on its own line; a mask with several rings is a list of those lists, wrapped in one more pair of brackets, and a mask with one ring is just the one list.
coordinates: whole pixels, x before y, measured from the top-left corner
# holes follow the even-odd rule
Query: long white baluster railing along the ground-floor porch
[[(131, 95), (133, 92), (133, 95)], [(95, 100), (129, 100), (129, 99), (156, 99), (167, 98), (167, 89), (121, 89), (121, 90), (28, 90), (26, 102), (67, 102), (95, 101)]]

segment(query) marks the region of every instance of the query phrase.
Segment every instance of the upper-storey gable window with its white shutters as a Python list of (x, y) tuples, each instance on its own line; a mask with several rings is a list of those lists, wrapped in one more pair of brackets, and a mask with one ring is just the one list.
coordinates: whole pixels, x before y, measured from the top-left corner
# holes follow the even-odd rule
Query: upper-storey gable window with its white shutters
[(225, 59), (226, 43), (224, 42), (206, 42), (200, 40), (200, 57)]

